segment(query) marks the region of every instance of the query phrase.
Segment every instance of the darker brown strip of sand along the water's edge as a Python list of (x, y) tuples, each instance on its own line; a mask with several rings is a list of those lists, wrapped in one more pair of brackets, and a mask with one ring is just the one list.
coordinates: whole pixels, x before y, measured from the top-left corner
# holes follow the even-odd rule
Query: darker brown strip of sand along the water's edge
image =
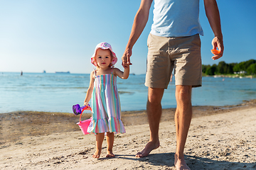
[[(256, 107), (256, 99), (231, 106), (193, 106), (192, 118), (216, 115), (244, 108)], [(173, 121), (176, 108), (162, 109), (161, 123)], [(91, 113), (82, 113), (81, 120), (91, 117)], [(79, 132), (80, 115), (73, 113), (16, 111), (0, 114), (0, 148), (8, 142), (16, 142), (27, 136), (50, 135), (56, 132)], [(148, 125), (146, 111), (123, 111), (122, 122), (125, 126)]]

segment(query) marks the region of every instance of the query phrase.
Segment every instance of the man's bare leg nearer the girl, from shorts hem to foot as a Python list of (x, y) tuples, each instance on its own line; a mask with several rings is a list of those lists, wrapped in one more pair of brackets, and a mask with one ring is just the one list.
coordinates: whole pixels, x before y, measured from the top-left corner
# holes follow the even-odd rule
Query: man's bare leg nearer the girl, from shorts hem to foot
[(138, 152), (135, 157), (146, 157), (149, 153), (160, 146), (159, 142), (159, 123), (161, 119), (161, 98), (164, 89), (149, 87), (148, 101), (146, 103), (146, 113), (149, 119), (150, 138), (146, 147)]

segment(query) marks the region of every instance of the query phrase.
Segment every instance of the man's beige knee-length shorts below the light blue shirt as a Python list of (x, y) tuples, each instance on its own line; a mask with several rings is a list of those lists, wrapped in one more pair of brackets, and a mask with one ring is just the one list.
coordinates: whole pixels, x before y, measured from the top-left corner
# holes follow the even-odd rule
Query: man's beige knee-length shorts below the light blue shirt
[(175, 85), (202, 86), (201, 40), (198, 34), (166, 38), (149, 34), (145, 85), (167, 89), (174, 71)]

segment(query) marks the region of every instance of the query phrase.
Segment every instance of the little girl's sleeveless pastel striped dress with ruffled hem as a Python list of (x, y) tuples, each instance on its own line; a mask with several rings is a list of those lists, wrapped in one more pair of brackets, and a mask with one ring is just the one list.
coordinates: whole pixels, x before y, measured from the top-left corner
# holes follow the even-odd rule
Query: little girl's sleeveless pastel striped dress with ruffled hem
[(117, 77), (113, 74), (96, 76), (92, 91), (92, 121), (87, 132), (121, 132), (124, 125), (121, 121), (121, 108), (117, 91)]

